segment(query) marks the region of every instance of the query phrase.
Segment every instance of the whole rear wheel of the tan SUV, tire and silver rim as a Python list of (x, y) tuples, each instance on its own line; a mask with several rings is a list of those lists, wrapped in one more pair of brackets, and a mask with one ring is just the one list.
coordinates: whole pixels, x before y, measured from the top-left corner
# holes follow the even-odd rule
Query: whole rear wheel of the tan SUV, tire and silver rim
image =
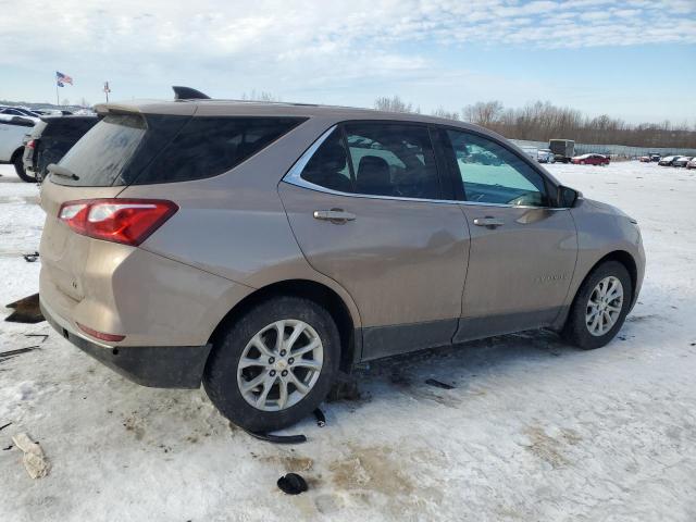
[(323, 307), (278, 297), (253, 307), (220, 336), (203, 386), (233, 423), (251, 432), (282, 430), (326, 397), (339, 355), (338, 330)]

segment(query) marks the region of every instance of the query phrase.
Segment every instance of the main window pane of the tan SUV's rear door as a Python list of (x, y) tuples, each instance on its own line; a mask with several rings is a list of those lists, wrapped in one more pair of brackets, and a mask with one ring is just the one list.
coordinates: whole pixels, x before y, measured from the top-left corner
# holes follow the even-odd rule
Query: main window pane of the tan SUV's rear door
[(396, 123), (347, 124), (346, 140), (357, 194), (439, 198), (427, 127)]

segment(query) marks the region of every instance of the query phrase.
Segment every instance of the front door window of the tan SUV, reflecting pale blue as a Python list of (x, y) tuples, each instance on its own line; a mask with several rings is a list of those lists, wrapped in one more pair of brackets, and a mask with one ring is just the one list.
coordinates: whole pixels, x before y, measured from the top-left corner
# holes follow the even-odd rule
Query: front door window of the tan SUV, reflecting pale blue
[(548, 207), (544, 178), (522, 158), (482, 136), (447, 130), (467, 201)]

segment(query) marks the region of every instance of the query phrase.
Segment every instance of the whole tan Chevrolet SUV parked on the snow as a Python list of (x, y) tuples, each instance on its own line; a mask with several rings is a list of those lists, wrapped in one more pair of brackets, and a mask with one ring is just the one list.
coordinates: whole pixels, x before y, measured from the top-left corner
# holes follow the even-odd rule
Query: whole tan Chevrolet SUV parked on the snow
[(251, 431), (339, 370), (548, 327), (607, 344), (636, 222), (502, 137), (417, 114), (209, 99), (100, 105), (41, 187), (40, 301), (136, 383), (198, 387)]

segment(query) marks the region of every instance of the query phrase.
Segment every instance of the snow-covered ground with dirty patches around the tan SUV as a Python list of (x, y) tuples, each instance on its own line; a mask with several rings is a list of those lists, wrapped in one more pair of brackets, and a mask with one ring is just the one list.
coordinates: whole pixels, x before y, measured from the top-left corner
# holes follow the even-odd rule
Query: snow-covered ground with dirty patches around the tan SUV
[[(0, 520), (696, 520), (696, 171), (551, 165), (643, 229), (643, 293), (619, 337), (580, 351), (526, 333), (372, 364), (362, 398), (274, 446), (202, 390), (132, 384), (46, 323), (0, 322)], [(37, 189), (0, 166), (0, 302), (37, 291)], [(26, 334), (48, 334), (40, 337)], [(452, 383), (444, 390), (425, 384)], [(33, 481), (11, 436), (52, 469)], [(310, 490), (275, 482), (299, 471)]]

